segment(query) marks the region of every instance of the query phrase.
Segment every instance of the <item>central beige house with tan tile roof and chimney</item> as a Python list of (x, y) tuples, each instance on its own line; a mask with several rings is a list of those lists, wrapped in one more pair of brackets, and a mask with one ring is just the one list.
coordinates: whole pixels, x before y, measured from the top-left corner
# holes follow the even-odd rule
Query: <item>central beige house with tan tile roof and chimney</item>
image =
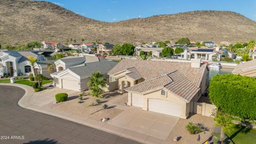
[(187, 118), (207, 89), (209, 69), (201, 60), (124, 59), (108, 75), (111, 87), (128, 92), (127, 105)]

